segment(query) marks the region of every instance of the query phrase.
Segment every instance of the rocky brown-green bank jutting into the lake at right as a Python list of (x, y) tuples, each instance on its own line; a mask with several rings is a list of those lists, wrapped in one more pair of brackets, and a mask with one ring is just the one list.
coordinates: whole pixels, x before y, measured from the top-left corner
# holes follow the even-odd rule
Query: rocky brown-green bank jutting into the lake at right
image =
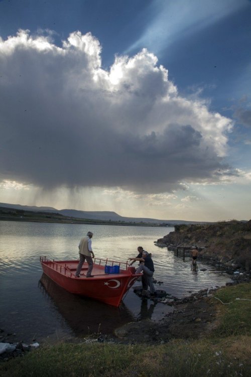
[(178, 246), (196, 245), (201, 258), (249, 271), (251, 269), (251, 220), (175, 225), (175, 231), (159, 238), (156, 245), (166, 246), (170, 250), (176, 250)]

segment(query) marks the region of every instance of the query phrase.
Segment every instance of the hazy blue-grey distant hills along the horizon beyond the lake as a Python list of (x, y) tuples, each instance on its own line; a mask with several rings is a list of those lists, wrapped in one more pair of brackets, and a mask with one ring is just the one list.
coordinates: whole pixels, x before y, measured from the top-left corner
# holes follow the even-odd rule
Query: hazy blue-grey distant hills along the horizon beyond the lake
[(147, 222), (153, 224), (166, 224), (167, 226), (173, 226), (175, 224), (207, 224), (209, 222), (203, 221), (184, 221), (184, 220), (160, 220), (154, 218), (147, 218), (147, 217), (123, 217), (118, 215), (116, 212), (113, 211), (80, 211), (77, 209), (56, 209), (53, 207), (37, 207), (37, 206), (28, 206), (28, 205), (21, 205), (21, 204), (9, 204), (9, 203), (0, 203), (0, 207), (6, 208), (15, 208), (15, 209), (23, 209), (26, 211), (34, 211), (34, 212), (52, 212), (52, 213), (59, 213), (63, 216), (68, 217), (76, 217), (82, 219), (90, 219), (90, 220), (111, 220), (111, 221), (130, 221), (130, 222)]

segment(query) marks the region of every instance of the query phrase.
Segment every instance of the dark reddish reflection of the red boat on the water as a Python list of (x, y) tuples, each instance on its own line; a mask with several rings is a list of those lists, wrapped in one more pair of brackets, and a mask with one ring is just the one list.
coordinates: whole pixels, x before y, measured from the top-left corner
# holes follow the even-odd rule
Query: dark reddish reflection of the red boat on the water
[(65, 291), (43, 274), (39, 281), (43, 295), (55, 304), (75, 336), (94, 333), (112, 334), (123, 324), (135, 321), (134, 315), (121, 302), (119, 308)]

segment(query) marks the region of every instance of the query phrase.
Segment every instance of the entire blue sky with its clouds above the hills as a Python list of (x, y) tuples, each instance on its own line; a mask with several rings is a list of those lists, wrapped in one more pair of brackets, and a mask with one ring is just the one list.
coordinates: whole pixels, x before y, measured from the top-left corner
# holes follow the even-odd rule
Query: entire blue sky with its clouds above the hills
[(0, 0), (0, 202), (251, 218), (250, 0)]

